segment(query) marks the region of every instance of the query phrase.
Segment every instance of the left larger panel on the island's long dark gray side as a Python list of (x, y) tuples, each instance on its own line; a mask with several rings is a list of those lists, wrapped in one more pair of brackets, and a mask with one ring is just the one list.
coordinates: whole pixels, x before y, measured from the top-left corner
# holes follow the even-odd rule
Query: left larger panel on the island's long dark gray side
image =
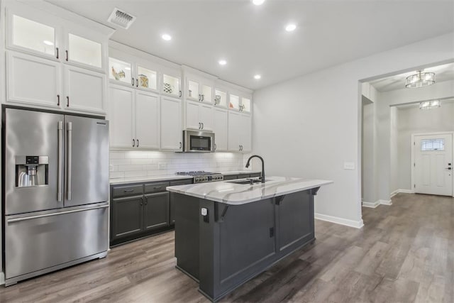
[(201, 199), (201, 207), (212, 216), (200, 220), (200, 290), (219, 299), (275, 260), (275, 203), (274, 198), (241, 205)]

